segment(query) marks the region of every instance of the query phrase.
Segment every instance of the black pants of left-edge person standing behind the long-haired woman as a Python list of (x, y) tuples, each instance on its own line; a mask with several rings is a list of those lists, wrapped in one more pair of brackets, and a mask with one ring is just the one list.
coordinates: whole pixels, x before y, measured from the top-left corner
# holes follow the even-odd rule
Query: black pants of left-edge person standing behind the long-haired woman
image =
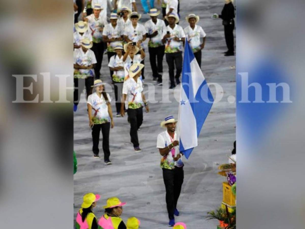
[(87, 99), (88, 96), (92, 94), (92, 87), (94, 84), (94, 78), (93, 77), (87, 77), (86, 79), (79, 79), (79, 78), (74, 78), (74, 104), (78, 105), (79, 100), (81, 98), (81, 92), (84, 89), (84, 86), (86, 86), (86, 94), (87, 94)]

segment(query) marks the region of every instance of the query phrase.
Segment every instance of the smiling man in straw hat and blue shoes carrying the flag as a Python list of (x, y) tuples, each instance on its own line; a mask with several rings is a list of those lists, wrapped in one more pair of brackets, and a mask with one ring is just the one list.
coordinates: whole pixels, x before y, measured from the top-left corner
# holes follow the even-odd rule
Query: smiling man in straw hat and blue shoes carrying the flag
[(157, 148), (162, 156), (161, 168), (163, 170), (163, 181), (166, 190), (166, 206), (169, 218), (169, 226), (173, 227), (175, 224), (175, 216), (179, 216), (177, 210), (177, 202), (181, 192), (181, 186), (183, 184), (184, 172), (183, 162), (181, 157), (182, 153), (179, 153), (175, 148), (179, 145), (177, 140), (176, 130), (177, 121), (174, 116), (168, 116), (163, 122), (161, 127), (166, 128), (158, 135)]

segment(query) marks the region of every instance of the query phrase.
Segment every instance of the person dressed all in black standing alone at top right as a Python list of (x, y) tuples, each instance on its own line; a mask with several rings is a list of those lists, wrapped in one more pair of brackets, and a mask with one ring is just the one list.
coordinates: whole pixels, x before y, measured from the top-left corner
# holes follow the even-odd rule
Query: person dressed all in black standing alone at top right
[(226, 44), (228, 51), (224, 52), (225, 56), (234, 55), (234, 37), (233, 30), (235, 27), (234, 18), (234, 5), (232, 0), (225, 0), (224, 8), (221, 11), (221, 15), (213, 14), (213, 18), (221, 18), (222, 24), (224, 26), (224, 38), (226, 39)]

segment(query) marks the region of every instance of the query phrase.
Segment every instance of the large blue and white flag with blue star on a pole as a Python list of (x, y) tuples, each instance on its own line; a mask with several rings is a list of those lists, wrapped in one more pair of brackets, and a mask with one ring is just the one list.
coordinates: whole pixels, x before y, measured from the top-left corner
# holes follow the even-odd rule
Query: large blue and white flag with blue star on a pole
[(188, 159), (198, 145), (197, 137), (203, 126), (214, 99), (209, 86), (192, 52), (185, 41), (181, 94), (179, 104), (178, 131), (179, 150)]

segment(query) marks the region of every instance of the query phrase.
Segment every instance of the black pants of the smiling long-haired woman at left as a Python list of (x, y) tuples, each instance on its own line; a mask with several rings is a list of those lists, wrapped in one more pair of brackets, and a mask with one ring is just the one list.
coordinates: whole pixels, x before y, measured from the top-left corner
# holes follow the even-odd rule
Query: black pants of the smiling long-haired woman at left
[(94, 124), (92, 127), (92, 141), (93, 147), (92, 151), (94, 154), (99, 154), (99, 133), (102, 130), (103, 135), (103, 152), (104, 160), (109, 160), (109, 133), (110, 133), (110, 123)]

